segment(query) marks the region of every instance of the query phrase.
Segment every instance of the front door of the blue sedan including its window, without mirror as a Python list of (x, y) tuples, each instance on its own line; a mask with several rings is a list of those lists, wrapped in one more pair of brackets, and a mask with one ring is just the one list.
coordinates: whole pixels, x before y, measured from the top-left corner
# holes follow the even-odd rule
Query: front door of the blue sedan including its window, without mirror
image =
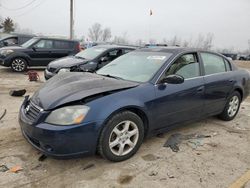
[(157, 129), (199, 119), (204, 107), (204, 80), (197, 53), (181, 55), (163, 73), (162, 78), (173, 74), (183, 76), (184, 82), (155, 85)]

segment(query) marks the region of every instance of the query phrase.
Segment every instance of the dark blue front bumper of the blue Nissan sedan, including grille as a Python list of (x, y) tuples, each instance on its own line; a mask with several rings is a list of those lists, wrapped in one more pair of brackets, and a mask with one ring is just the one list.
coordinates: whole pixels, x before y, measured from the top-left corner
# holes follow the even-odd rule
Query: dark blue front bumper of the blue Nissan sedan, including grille
[(41, 122), (49, 113), (43, 111), (39, 119), (32, 123), (26, 115), (27, 101), (26, 98), (20, 108), (19, 124), (32, 146), (47, 156), (62, 159), (95, 154), (99, 127), (103, 122), (56, 126)]

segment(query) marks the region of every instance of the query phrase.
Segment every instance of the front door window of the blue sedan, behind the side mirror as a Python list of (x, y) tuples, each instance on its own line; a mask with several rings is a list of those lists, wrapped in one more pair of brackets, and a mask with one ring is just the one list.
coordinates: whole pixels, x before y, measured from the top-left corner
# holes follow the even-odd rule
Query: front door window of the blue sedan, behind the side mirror
[(200, 66), (196, 54), (185, 54), (179, 57), (167, 70), (165, 76), (178, 74), (185, 79), (200, 76)]

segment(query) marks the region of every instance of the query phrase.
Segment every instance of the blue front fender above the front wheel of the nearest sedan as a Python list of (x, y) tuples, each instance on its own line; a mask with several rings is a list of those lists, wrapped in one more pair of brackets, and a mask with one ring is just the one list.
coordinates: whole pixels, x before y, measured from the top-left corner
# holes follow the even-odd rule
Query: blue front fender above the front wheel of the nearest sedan
[(148, 125), (150, 125), (153, 118), (152, 101), (154, 98), (155, 92), (151, 84), (119, 91), (87, 103), (90, 111), (85, 120), (103, 120), (106, 122), (119, 111), (136, 109), (143, 112), (148, 120)]

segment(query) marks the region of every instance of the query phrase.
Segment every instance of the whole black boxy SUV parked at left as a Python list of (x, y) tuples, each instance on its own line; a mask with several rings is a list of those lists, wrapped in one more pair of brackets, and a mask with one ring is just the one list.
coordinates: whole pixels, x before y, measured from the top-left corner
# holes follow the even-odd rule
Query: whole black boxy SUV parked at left
[(0, 49), (0, 65), (23, 72), (28, 66), (47, 66), (49, 62), (76, 54), (80, 51), (78, 41), (48, 37), (34, 37), (21, 46)]

